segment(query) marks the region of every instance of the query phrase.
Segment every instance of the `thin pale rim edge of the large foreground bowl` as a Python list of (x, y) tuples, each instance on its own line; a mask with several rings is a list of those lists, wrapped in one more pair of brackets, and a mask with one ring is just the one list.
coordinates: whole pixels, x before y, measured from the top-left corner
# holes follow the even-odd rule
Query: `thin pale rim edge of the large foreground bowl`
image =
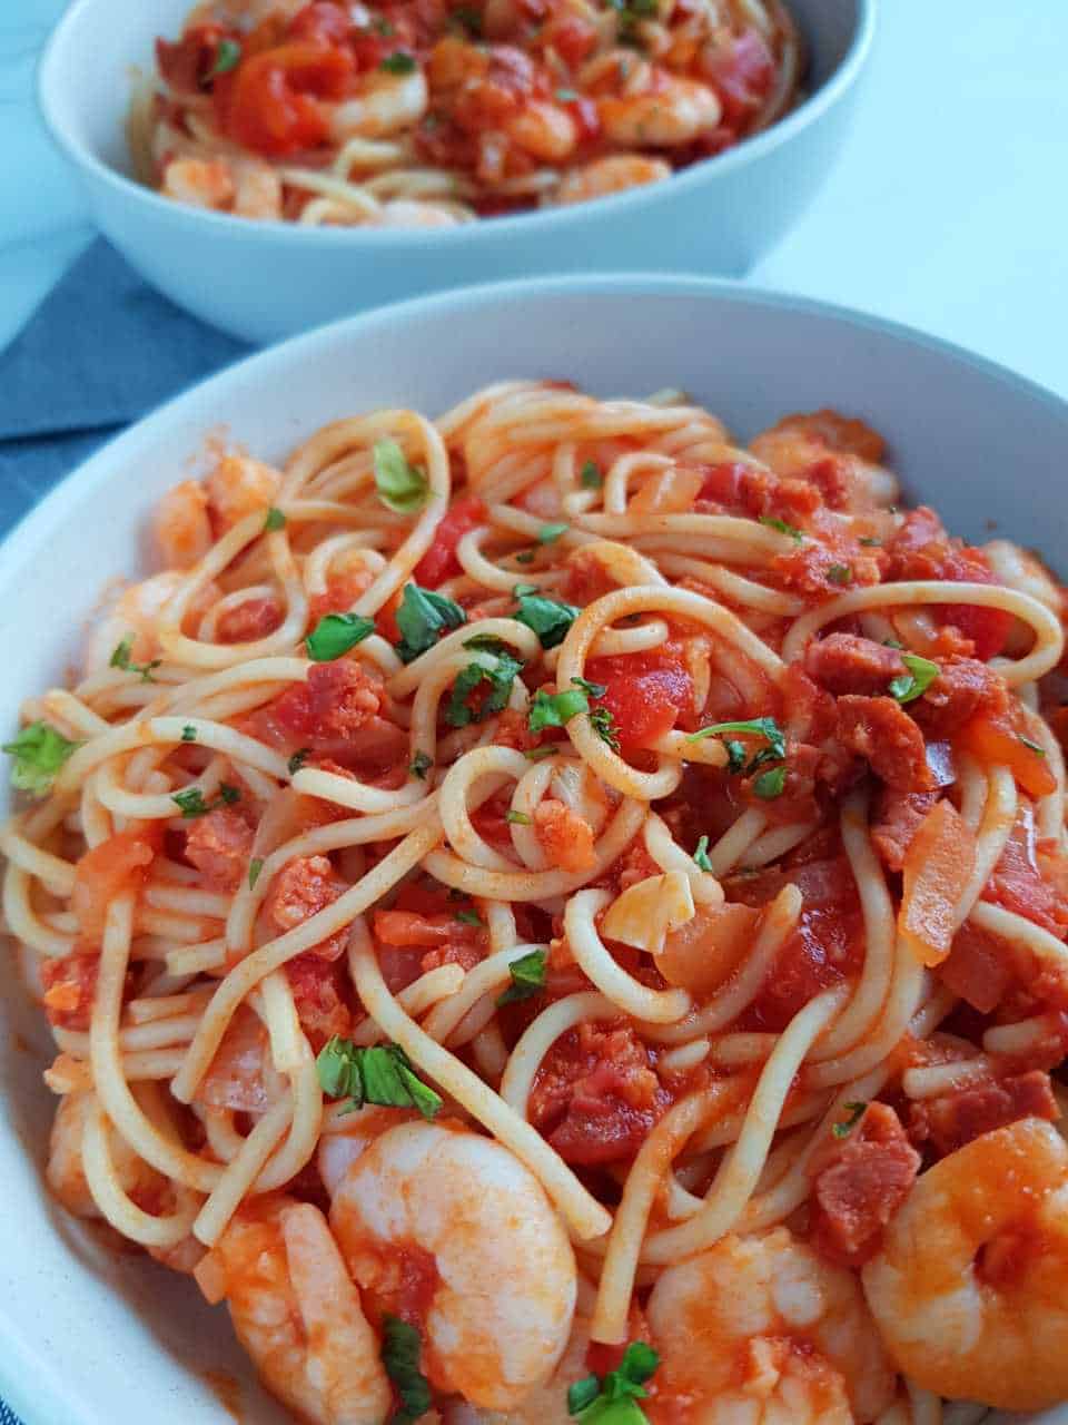
[[(115, 465), (127, 459), (128, 455), (135, 455), (147, 435), (151, 439), (155, 428), (179, 423), (184, 410), (202, 403), (205, 396), (212, 400), (225, 398), (229, 386), (244, 383), (249, 376), (266, 376), (271, 379), (279, 370), (299, 365), (303, 355), (313, 352), (318, 346), (329, 346), (339, 341), (359, 342), (360, 339), (373, 336), (383, 326), (389, 326), (397, 321), (407, 321), (417, 314), (441, 314), (453, 309), (464, 312), (468, 316), (474, 315), (477, 319), (481, 312), (494, 308), (507, 308), (517, 298), (555, 299), (568, 296), (614, 296), (617, 299), (628, 296), (684, 296), (695, 302), (713, 299), (742, 312), (756, 309), (829, 318), (836, 325), (867, 332), (877, 341), (889, 339), (894, 343), (913, 345), (931, 351), (953, 363), (977, 370), (990, 380), (1007, 385), (1055, 412), (1064, 422), (1068, 435), (1068, 400), (1045, 386), (943, 338), (834, 302), (796, 296), (769, 288), (749, 286), (748, 284), (723, 278), (679, 276), (671, 274), (618, 274), (601, 276), (580, 274), (574, 276), (478, 284), (456, 288), (449, 292), (416, 296), (406, 302), (376, 308), (318, 326), (310, 332), (292, 336), (285, 342), (234, 362), (231, 366), (205, 378), (148, 412), (140, 420), (131, 423), (127, 430), (107, 440), (87, 460), (77, 465), (70, 475), (53, 486), (37, 506), (13, 526), (3, 543), (0, 543), (0, 556), (3, 556), (0, 559), (0, 597), (3, 597), (4, 589), (19, 579), (24, 563), (34, 559), (47, 546), (51, 532), (71, 519), (70, 496), (73, 490), (77, 489), (80, 493), (84, 492), (88, 494), (94, 487), (104, 486)], [(107, 577), (107, 570), (103, 571), (103, 577)], [(11, 1133), (9, 1141), (17, 1146), (19, 1153), (27, 1154), (27, 1149), (17, 1139), (17, 1134)], [(26, 1260), (31, 1265), (31, 1244), (27, 1244), (27, 1248)], [(10, 1402), (13, 1409), (19, 1411), (24, 1425), (53, 1425), (57, 1419), (66, 1419), (70, 1425), (104, 1425), (104, 1419), (100, 1415), (91, 1416), (87, 1414), (87, 1406), (83, 1401), (77, 1399), (73, 1387), (68, 1388), (63, 1372), (56, 1371), (54, 1362), (46, 1359), (46, 1342), (27, 1337), (20, 1328), (17, 1302), (13, 1298), (9, 1298), (9, 1304), (0, 1304), (0, 1332), (4, 1342), (3, 1351), (0, 1351), (0, 1394)]]

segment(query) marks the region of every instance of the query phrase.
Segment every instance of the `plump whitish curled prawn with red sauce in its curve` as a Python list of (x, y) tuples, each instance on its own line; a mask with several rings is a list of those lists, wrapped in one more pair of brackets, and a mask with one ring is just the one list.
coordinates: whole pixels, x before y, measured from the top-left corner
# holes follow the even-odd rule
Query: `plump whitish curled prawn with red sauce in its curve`
[(422, 1278), (423, 1371), (507, 1411), (553, 1374), (575, 1310), (575, 1258), (537, 1178), (466, 1129), (404, 1123), (346, 1170), (330, 1226), (349, 1271), (400, 1314)]

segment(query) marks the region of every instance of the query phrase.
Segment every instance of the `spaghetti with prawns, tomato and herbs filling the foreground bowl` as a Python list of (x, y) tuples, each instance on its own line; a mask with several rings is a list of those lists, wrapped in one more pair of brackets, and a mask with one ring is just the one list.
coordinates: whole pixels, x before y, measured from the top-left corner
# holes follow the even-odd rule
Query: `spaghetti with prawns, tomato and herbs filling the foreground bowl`
[(4, 747), (70, 1213), (313, 1425), (1068, 1399), (1032, 556), (860, 420), (550, 380), (214, 450), (154, 537)]

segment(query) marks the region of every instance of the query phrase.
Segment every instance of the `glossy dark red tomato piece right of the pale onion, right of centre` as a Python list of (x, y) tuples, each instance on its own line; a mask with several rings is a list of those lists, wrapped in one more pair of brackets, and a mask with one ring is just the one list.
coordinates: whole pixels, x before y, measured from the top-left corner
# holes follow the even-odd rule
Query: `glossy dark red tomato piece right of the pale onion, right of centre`
[(755, 1029), (785, 1029), (815, 995), (854, 973), (863, 960), (860, 901), (844, 856), (812, 861), (789, 872), (736, 878), (728, 882), (726, 892), (731, 901), (762, 906), (787, 882), (797, 886), (805, 903), (797, 929), (746, 1015)]

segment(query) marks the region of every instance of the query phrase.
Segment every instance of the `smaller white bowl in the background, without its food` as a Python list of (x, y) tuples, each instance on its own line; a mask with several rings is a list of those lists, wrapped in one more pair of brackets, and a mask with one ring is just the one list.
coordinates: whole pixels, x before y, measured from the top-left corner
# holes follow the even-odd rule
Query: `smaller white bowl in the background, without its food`
[(252, 342), (383, 302), (543, 272), (740, 275), (800, 217), (850, 127), (876, 0), (789, 0), (812, 97), (765, 134), (662, 184), (431, 232), (300, 228), (201, 212), (130, 174), (132, 66), (189, 0), (74, 0), (46, 50), (40, 103), (101, 231), (179, 306)]

